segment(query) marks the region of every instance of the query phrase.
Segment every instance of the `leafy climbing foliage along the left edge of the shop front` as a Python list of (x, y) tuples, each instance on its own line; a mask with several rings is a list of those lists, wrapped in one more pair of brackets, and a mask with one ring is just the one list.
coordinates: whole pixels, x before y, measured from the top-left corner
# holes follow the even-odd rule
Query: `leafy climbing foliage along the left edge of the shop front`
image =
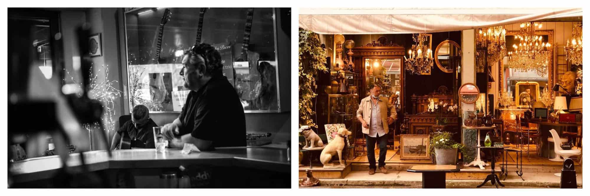
[(312, 100), (317, 96), (314, 84), (318, 71), (328, 71), (326, 49), (322, 48), (316, 33), (299, 28), (299, 126), (317, 128), (313, 122), (316, 112)]

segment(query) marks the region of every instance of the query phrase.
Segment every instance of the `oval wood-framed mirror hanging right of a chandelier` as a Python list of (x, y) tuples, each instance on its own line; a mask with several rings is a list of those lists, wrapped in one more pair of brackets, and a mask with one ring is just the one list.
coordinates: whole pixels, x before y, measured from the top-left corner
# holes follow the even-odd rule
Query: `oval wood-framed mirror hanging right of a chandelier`
[(445, 73), (453, 73), (458, 62), (461, 62), (461, 46), (457, 42), (445, 40), (438, 44), (434, 51), (434, 60), (437, 67)]

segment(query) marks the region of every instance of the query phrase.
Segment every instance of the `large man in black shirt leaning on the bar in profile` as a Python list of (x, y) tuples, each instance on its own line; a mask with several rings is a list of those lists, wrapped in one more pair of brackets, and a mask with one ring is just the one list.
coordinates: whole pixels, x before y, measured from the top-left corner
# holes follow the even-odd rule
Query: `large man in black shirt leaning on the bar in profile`
[(246, 145), (244, 108), (223, 76), (221, 55), (209, 44), (196, 44), (182, 58), (184, 87), (191, 90), (182, 112), (162, 127), (172, 148), (194, 144), (199, 150)]

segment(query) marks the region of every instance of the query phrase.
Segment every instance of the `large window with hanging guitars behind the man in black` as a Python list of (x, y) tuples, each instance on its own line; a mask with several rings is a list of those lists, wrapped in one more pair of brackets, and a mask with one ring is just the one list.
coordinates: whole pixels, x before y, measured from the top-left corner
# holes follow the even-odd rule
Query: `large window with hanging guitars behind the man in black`
[(168, 9), (169, 21), (165, 20), (163, 25), (160, 24), (166, 8), (126, 10), (130, 107), (142, 104), (152, 112), (181, 111), (189, 92), (179, 75), (182, 54), (195, 44), (203, 15), (201, 42), (214, 45), (221, 52), (224, 75), (234, 85), (244, 110), (278, 112), (273, 8)]

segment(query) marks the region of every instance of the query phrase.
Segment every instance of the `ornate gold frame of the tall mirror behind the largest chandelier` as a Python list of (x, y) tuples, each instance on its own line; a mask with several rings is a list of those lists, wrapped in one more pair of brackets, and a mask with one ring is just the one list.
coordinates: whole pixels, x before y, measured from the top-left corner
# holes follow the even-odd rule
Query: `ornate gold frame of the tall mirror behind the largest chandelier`
[[(519, 31), (507, 31), (506, 32), (506, 36), (509, 35), (517, 35)], [(552, 45), (551, 47), (551, 56), (549, 58), (549, 66), (547, 67), (547, 85), (548, 85), (548, 89), (549, 92), (552, 92), (552, 88), (553, 88), (553, 84), (555, 84), (555, 72), (553, 71), (553, 68), (555, 68), (555, 64), (553, 64), (553, 59), (555, 59), (555, 42), (553, 42), (553, 30), (545, 30), (545, 31), (535, 31), (535, 35), (547, 35), (548, 36), (548, 40), (549, 40), (549, 44)], [(512, 48), (512, 45), (506, 45), (506, 48)], [(508, 51), (506, 51), (508, 52)], [(500, 66), (498, 66), (498, 85), (500, 89), (500, 92), (506, 92), (506, 88), (504, 88), (504, 61), (500, 61)], [(518, 97), (518, 94), (514, 95), (514, 103), (516, 103), (516, 99)]]

